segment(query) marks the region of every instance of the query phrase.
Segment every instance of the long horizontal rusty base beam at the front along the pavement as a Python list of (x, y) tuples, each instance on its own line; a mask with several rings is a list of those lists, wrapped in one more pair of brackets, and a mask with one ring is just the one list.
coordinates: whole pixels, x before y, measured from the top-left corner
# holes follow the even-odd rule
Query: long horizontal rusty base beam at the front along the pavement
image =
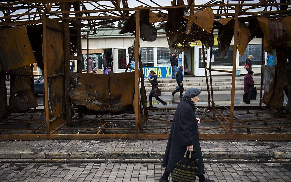
[[(65, 140), (65, 139), (168, 139), (169, 134), (52, 134), (52, 135), (0, 135), (0, 140)], [(291, 140), (290, 134), (199, 134), (201, 140)]]

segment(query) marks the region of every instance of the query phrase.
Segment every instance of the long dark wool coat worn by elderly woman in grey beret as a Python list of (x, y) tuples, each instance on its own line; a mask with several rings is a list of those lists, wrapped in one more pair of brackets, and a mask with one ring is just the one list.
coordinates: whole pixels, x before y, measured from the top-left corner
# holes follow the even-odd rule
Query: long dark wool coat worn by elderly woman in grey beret
[(203, 157), (199, 143), (198, 125), (194, 104), (183, 100), (179, 103), (171, 127), (162, 166), (167, 172), (172, 173), (175, 165), (182, 159), (186, 146), (193, 145), (196, 153), (191, 153), (191, 158), (199, 161), (197, 175), (205, 174)]

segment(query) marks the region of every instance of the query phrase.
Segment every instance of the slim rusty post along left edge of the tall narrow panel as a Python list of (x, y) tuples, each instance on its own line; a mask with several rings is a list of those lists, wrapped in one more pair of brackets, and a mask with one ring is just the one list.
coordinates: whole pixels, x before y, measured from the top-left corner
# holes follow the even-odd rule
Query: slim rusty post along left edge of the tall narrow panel
[(43, 58), (43, 67), (44, 67), (44, 79), (45, 79), (45, 119), (47, 123), (47, 135), (50, 135), (49, 128), (49, 97), (48, 97), (48, 75), (47, 75), (47, 23), (46, 23), (46, 14), (42, 15), (42, 58)]

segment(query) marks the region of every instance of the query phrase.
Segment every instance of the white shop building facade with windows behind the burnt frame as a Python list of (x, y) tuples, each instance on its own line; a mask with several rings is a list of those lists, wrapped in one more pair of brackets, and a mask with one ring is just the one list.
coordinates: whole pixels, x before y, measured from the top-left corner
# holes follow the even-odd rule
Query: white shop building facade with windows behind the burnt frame
[[(99, 54), (101, 56), (105, 52), (112, 52), (112, 67), (114, 73), (124, 72), (127, 64), (129, 63), (130, 55), (128, 53), (128, 47), (134, 43), (134, 36), (130, 34), (119, 35), (119, 29), (98, 29), (97, 34), (89, 36), (89, 52), (90, 54)], [(162, 30), (163, 31), (163, 30)], [(224, 58), (220, 57), (217, 46), (217, 34), (214, 34), (215, 43), (212, 48), (212, 59), (210, 60), (210, 49), (205, 49), (207, 56), (207, 64), (209, 66), (210, 61), (213, 69), (229, 70), (232, 71), (233, 65), (233, 40), (228, 49), (228, 52)], [(153, 42), (145, 42), (140, 40), (141, 47), (141, 60), (143, 67), (157, 67), (156, 69), (164, 67), (170, 67), (170, 55), (171, 51), (168, 47), (168, 41), (166, 35), (158, 33), (158, 37)], [(86, 39), (82, 39), (82, 52), (86, 49)], [(98, 50), (94, 52), (94, 50)], [(103, 51), (102, 51), (103, 50)], [(185, 56), (184, 56), (185, 55)], [(246, 74), (244, 69), (244, 63), (249, 55), (253, 55), (252, 70), (255, 74), (261, 73), (261, 39), (254, 38), (251, 40), (246, 48), (243, 56), (239, 55), (237, 51), (236, 56), (236, 69), (241, 71), (241, 74)], [(189, 50), (186, 50), (180, 54), (182, 57), (183, 66), (187, 65), (188, 75), (205, 76), (202, 47), (199, 41), (191, 43)], [(107, 56), (108, 57), (108, 56)], [(264, 60), (266, 53), (264, 56)], [(186, 58), (186, 59), (184, 59)], [(276, 57), (275, 57), (276, 58)], [(110, 59), (110, 58), (109, 58)], [(266, 60), (265, 60), (266, 64)], [(180, 66), (180, 65), (179, 65)], [(170, 70), (168, 70), (170, 71)], [(145, 71), (145, 76), (148, 70)], [(212, 72), (213, 75), (230, 75), (230, 73)], [(165, 74), (158, 75), (159, 77), (166, 77)], [(169, 75), (167, 74), (167, 77)]]

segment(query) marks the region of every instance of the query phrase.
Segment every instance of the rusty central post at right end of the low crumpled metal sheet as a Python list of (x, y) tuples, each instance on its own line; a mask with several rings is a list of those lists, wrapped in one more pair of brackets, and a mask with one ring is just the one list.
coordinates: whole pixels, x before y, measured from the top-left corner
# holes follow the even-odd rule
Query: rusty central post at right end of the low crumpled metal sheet
[(140, 10), (136, 10), (136, 29), (134, 39), (134, 62), (135, 62), (135, 74), (134, 74), (134, 113), (135, 113), (135, 127), (136, 134), (139, 134), (141, 124), (141, 112), (140, 112), (140, 98), (139, 98), (139, 32), (140, 32)]

